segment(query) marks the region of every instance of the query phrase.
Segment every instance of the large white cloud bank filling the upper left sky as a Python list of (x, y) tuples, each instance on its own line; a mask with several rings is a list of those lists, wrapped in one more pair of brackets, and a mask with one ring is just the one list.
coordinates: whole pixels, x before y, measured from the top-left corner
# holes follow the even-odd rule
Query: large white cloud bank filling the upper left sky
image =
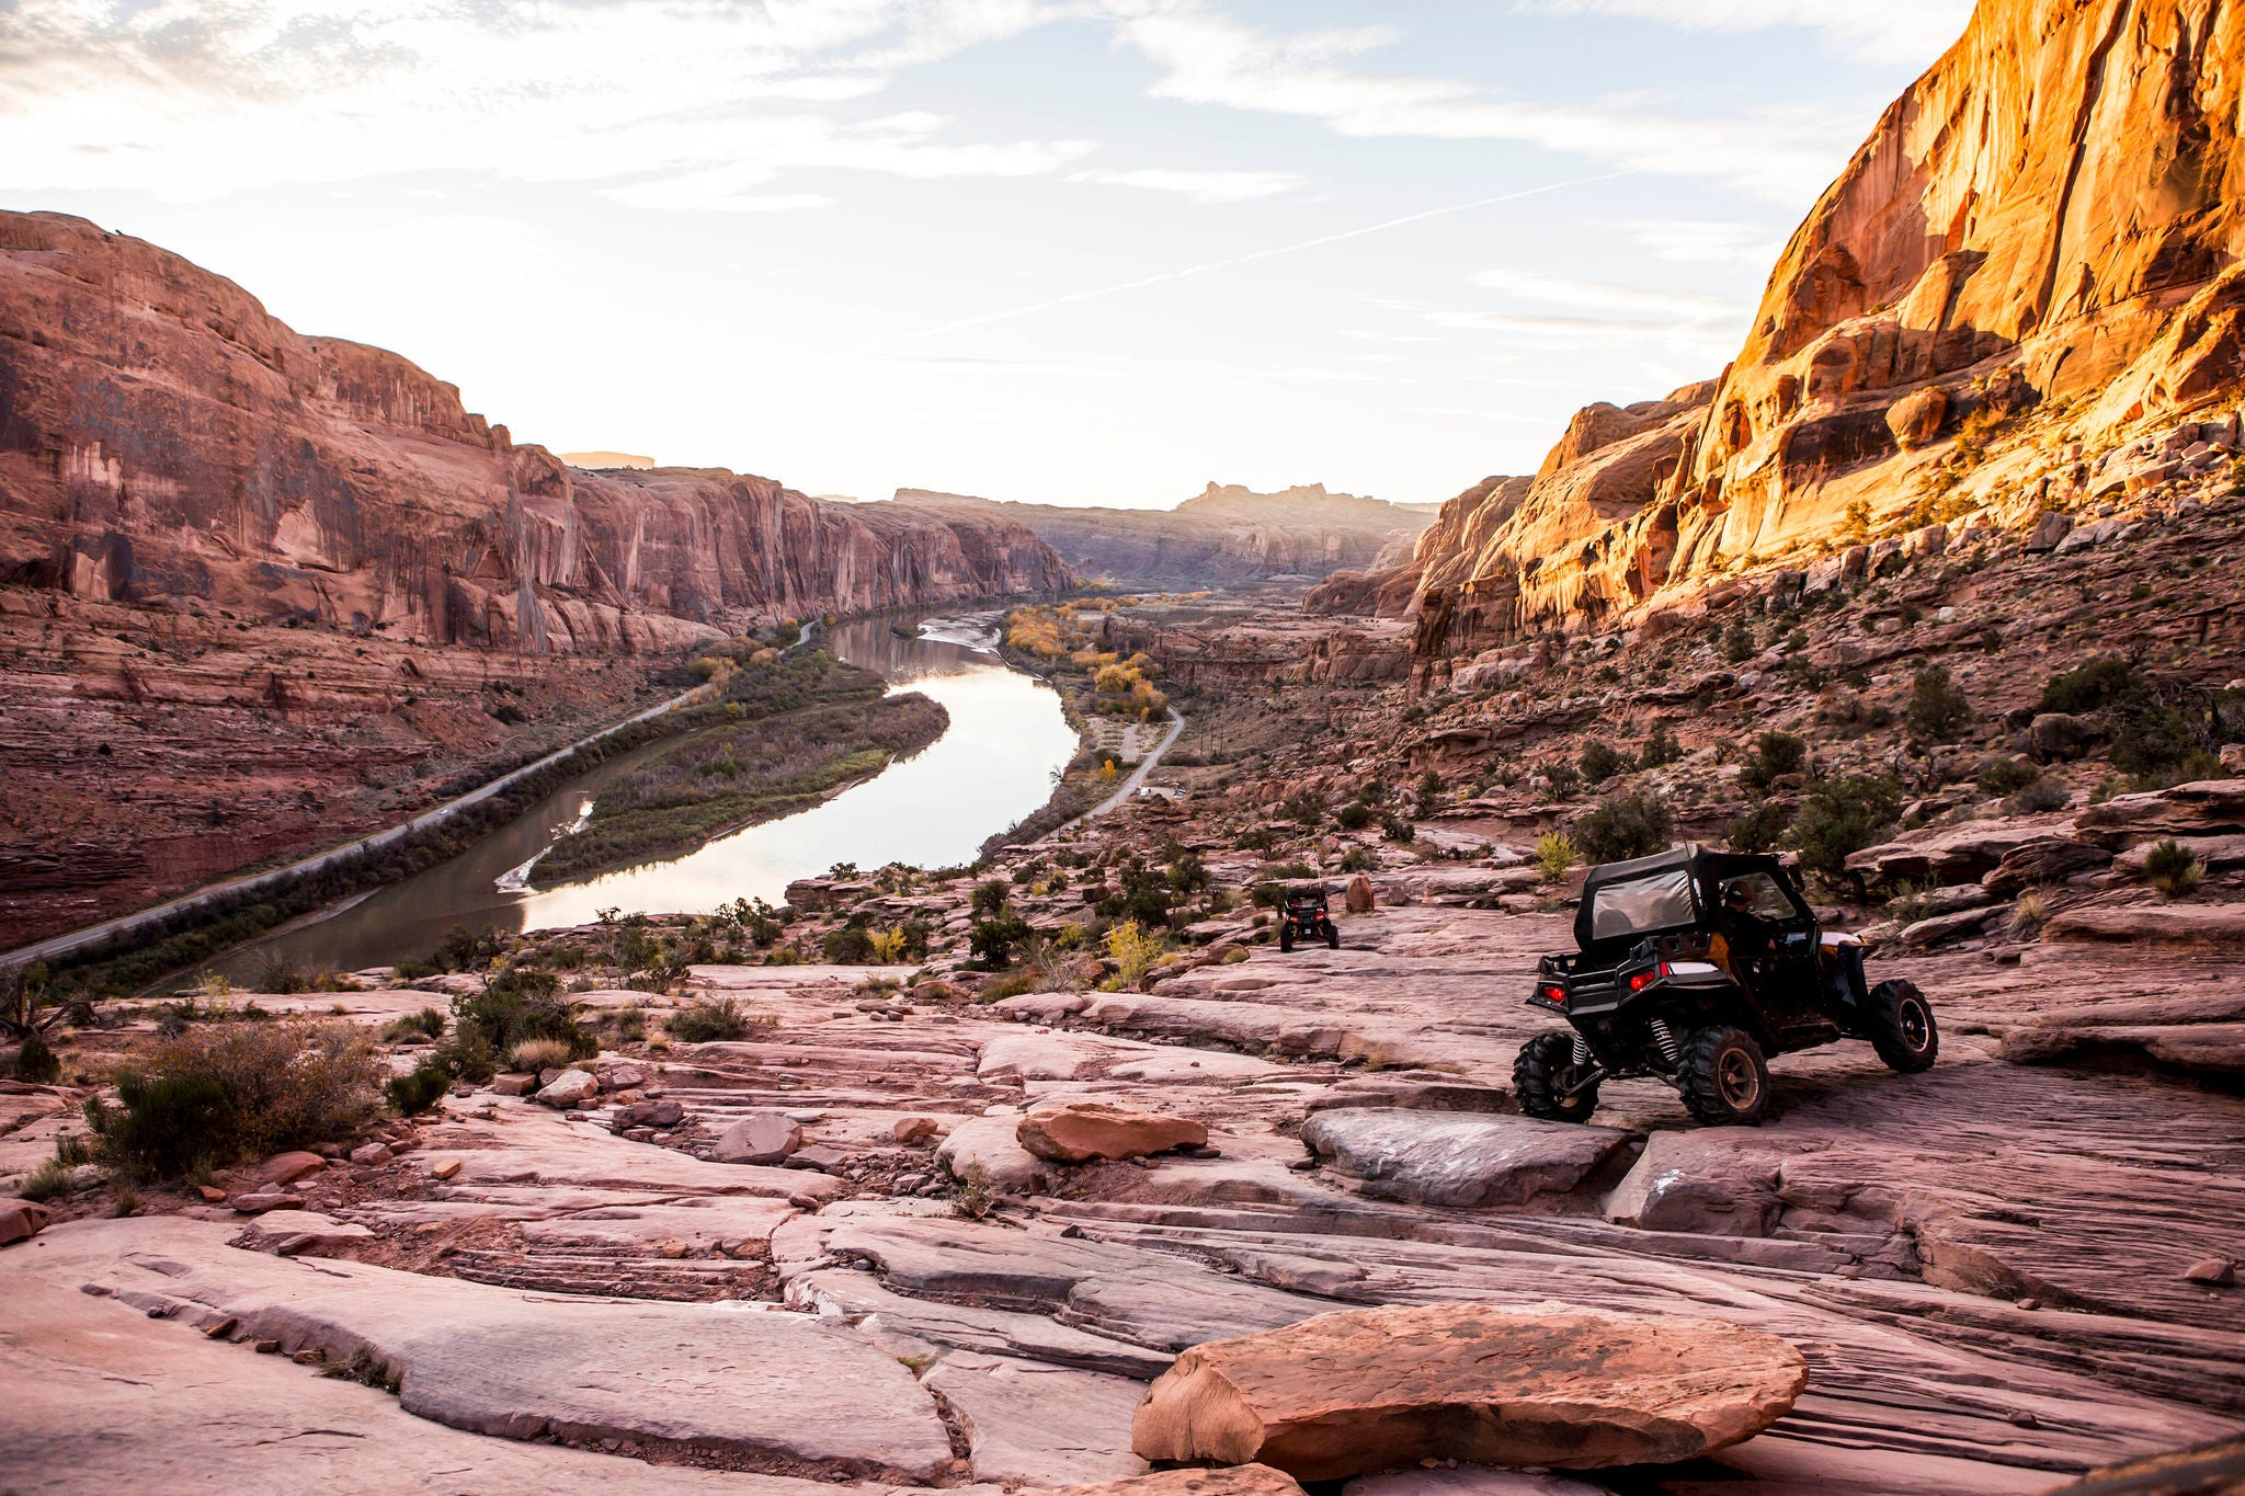
[[(801, 168), (1037, 175), (1087, 141), (941, 141), (826, 108), (1064, 13), (1037, 0), (22, 0), (0, 9), (16, 188), (171, 200), (276, 182), (485, 170), (624, 202), (770, 211)], [(703, 195), (705, 193), (705, 195)]]

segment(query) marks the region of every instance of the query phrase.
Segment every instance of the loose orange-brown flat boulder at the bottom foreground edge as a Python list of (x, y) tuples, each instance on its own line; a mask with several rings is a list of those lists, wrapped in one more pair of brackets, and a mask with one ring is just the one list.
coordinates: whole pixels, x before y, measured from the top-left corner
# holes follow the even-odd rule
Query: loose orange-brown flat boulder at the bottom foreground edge
[(1563, 1303), (1343, 1310), (1194, 1346), (1147, 1393), (1147, 1460), (1340, 1480), (1419, 1460), (1670, 1465), (1753, 1438), (1807, 1386), (1783, 1339)]

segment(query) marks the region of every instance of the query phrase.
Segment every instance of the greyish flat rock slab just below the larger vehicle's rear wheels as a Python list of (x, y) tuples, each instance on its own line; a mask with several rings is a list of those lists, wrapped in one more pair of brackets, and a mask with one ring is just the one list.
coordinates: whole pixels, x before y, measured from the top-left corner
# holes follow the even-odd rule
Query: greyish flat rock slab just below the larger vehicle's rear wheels
[(1374, 1200), (1408, 1204), (1520, 1204), (1567, 1193), (1632, 1142), (1621, 1128), (1536, 1117), (1479, 1117), (1405, 1108), (1313, 1115), (1302, 1144)]

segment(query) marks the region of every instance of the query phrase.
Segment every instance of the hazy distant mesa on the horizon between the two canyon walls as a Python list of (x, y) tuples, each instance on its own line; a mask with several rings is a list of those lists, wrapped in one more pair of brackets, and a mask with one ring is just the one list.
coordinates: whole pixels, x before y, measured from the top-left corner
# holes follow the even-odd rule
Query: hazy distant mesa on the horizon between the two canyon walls
[(1145, 588), (1217, 588), (1275, 576), (1329, 576), (1401, 561), (1432, 516), (1322, 482), (1282, 493), (1215, 484), (1176, 509), (1001, 505), (961, 493), (900, 489), (898, 505), (981, 514), (1035, 529), (1084, 576)]

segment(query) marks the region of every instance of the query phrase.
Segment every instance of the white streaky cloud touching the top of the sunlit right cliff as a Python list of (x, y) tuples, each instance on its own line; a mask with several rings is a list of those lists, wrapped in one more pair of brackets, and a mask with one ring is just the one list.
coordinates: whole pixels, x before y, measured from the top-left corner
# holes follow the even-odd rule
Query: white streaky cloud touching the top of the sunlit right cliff
[(1199, 0), (1116, 0), (1116, 11), (1122, 40), (1163, 67), (1154, 96), (1318, 119), (1349, 137), (1511, 139), (1796, 202), (1832, 177), (1861, 132), (1852, 110), (1661, 114), (1641, 99), (1556, 103), (1347, 67), (1394, 40), (1385, 27), (1275, 36)]

